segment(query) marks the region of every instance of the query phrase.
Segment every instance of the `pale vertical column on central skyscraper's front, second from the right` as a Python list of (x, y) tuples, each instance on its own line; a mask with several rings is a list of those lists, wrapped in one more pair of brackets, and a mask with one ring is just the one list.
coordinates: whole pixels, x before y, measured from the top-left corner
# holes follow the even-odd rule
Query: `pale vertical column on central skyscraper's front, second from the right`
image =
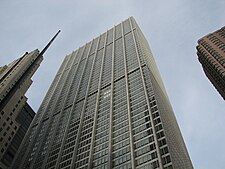
[(131, 121), (131, 112), (130, 112), (130, 97), (129, 97), (129, 89), (128, 89), (128, 71), (127, 71), (127, 63), (126, 63), (126, 52), (125, 52), (125, 42), (124, 42), (124, 28), (123, 22), (121, 24), (122, 30), (122, 43), (123, 43), (123, 55), (124, 55), (124, 69), (125, 69), (125, 81), (126, 81), (126, 93), (127, 93), (127, 112), (128, 112), (128, 121), (129, 121), (129, 133), (130, 133), (130, 152), (131, 152), (131, 166), (135, 168), (135, 158), (134, 158), (134, 141), (133, 141), (133, 132), (132, 132), (132, 121)]

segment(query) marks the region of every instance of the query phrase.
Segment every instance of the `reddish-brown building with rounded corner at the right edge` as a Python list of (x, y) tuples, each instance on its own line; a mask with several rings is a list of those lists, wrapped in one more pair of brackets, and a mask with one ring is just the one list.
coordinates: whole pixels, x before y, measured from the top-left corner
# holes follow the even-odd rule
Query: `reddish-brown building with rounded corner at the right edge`
[(225, 27), (198, 40), (197, 55), (206, 76), (225, 100)]

